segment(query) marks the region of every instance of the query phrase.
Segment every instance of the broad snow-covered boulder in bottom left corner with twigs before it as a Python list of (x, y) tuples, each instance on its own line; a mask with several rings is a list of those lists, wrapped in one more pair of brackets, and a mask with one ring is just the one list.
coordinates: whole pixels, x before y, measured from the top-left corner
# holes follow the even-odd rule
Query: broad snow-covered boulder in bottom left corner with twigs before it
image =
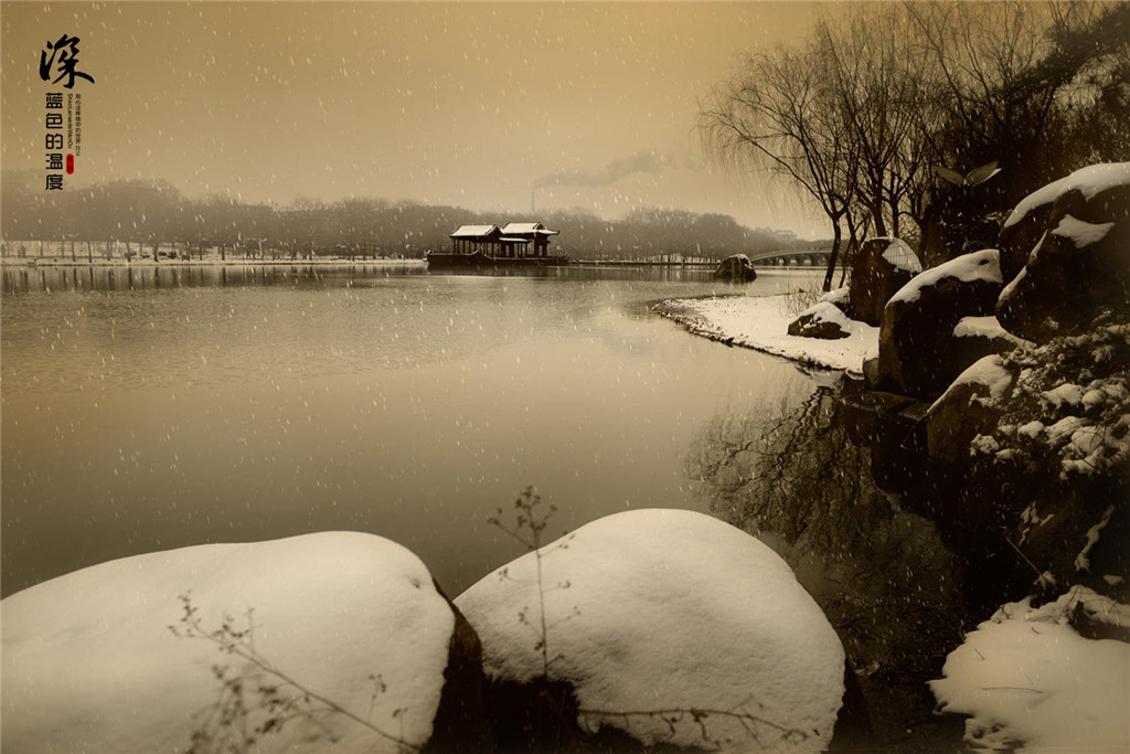
[[(6, 598), (3, 751), (185, 751), (209, 716), (224, 711), (214, 666), (242, 678), (247, 731), (270, 717), (260, 707), (261, 685), (298, 697), (296, 710), (276, 716), (324, 710), (238, 655), (184, 636), (192, 632), (181, 621), (181, 596), (206, 633), (225, 623), (228, 638), (250, 630), (245, 641), (273, 667), (392, 738), (418, 746), (432, 735), (455, 624), (451, 606), (400, 545), (323, 532), (127, 557)], [(322, 752), (331, 737), (336, 752), (400, 748), (341, 713), (269, 727), (257, 751)]]

